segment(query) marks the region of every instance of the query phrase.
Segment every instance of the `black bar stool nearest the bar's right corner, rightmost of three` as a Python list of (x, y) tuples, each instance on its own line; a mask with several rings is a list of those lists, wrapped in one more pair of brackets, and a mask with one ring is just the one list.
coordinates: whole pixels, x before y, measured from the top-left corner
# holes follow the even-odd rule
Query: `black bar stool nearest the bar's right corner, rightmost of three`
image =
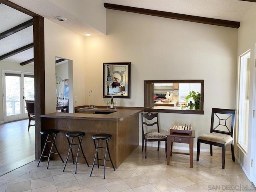
[[(98, 168), (100, 168), (100, 164), (99, 164), (99, 160), (104, 160), (104, 165), (101, 165), (101, 166), (104, 166), (104, 176), (103, 178), (105, 178), (105, 169), (106, 169), (106, 161), (110, 161), (113, 168), (114, 168), (114, 171), (116, 170), (115, 167), (114, 167), (114, 164), (112, 162), (112, 159), (110, 157), (110, 152), (109, 152), (109, 149), (108, 149), (108, 143), (109, 143), (109, 140), (112, 138), (112, 135), (110, 134), (105, 134), (105, 133), (102, 133), (102, 134), (96, 134), (96, 135), (93, 135), (92, 136), (92, 139), (93, 139), (93, 142), (94, 142), (94, 146), (95, 146), (95, 156), (94, 156), (94, 161), (93, 161), (93, 165), (92, 165), (92, 170), (93, 170), (93, 167), (95, 165), (95, 160), (96, 160), (96, 156), (97, 156), (97, 164), (98, 165)], [(95, 140), (98, 140), (98, 143), (97, 143), (97, 146), (96, 146), (96, 142)], [(100, 140), (106, 140), (106, 147), (99, 147), (99, 144), (100, 144)], [(106, 149), (106, 152), (105, 152), (105, 158), (104, 159), (99, 159), (99, 155), (98, 155), (98, 148), (104, 148)], [(109, 159), (110, 160), (106, 160), (106, 157), (107, 157), (107, 152), (108, 152), (108, 156), (109, 156)], [(91, 173), (90, 173), (90, 176), (92, 176), (92, 170), (91, 170)]]

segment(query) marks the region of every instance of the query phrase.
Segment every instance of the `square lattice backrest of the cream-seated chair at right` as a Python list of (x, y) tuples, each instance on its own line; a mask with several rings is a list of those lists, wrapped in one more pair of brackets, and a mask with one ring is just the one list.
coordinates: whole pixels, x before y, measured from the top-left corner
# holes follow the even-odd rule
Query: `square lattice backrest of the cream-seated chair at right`
[(235, 112), (234, 109), (212, 108), (211, 133), (222, 133), (233, 137)]

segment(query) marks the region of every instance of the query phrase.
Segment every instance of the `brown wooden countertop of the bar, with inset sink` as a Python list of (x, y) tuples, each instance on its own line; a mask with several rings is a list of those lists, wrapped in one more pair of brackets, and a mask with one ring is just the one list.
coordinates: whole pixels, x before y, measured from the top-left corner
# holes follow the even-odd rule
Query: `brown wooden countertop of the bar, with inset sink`
[[(44, 118), (65, 118), (65, 119), (83, 119), (83, 120), (106, 120), (106, 121), (122, 121), (143, 111), (142, 107), (118, 107), (115, 109), (107, 109), (105, 106), (96, 106), (96, 109), (81, 109), (86, 106), (75, 107), (78, 113), (50, 113), (41, 115)], [(88, 114), (83, 112), (110, 112), (110, 114)]]

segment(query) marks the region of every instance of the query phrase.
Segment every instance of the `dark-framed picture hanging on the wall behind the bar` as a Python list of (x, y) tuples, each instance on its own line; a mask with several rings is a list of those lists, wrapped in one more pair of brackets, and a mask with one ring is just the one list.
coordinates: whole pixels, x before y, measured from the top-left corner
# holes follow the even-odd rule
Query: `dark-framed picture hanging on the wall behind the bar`
[(103, 97), (130, 98), (131, 62), (103, 63)]

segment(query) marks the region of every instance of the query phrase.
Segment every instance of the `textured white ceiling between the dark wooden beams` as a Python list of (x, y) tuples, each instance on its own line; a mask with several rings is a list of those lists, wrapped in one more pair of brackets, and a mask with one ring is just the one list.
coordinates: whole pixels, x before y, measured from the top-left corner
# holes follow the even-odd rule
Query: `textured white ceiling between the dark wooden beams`
[[(102, 35), (101, 32), (84, 23), (84, 21), (76, 18), (73, 13), (67, 12), (66, 10), (60, 8), (60, 6), (52, 3), (51, 0), (10, 1), (78, 34), (83, 34), (85, 31), (90, 31), (93, 33), (93, 35)], [(79, 3), (80, 0), (69, 1), (71, 3)], [(244, 14), (253, 4), (252, 2), (240, 0), (101, 0), (101, 2), (102, 6), (104, 6), (104, 3), (110, 3), (238, 22), (242, 20)], [(63, 16), (69, 19), (65, 22), (59, 22), (54, 19), (56, 16)], [(1, 33), (18, 24), (30, 20), (32, 17), (9, 8), (4, 4), (0, 4), (0, 18)], [(33, 30), (31, 26), (0, 40), (0, 56), (26, 44), (32, 43), (32, 32)], [(26, 50), (10, 58), (6, 58), (5, 60), (12, 62), (24, 62), (31, 58), (33, 58), (33, 49)]]

